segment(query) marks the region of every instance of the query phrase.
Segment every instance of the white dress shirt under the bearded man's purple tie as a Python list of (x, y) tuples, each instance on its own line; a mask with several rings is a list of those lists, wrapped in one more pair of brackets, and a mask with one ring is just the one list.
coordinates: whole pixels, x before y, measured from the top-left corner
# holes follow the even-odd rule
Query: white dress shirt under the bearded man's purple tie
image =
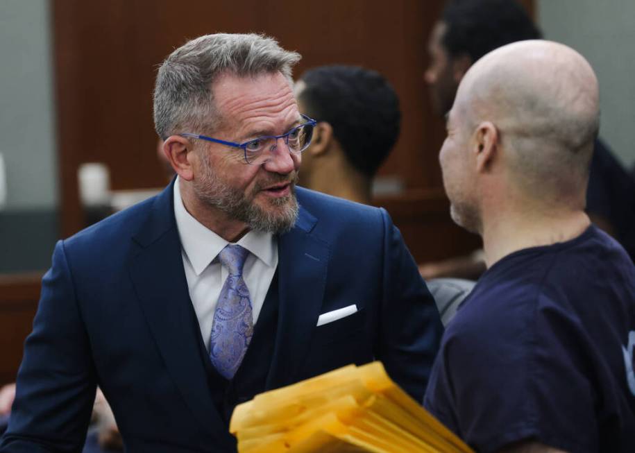
[[(180, 196), (179, 178), (174, 182), (174, 216), (181, 241), (181, 256), (185, 277), (192, 299), (198, 327), (205, 348), (210, 350), (210, 334), (214, 310), (228, 271), (221, 266), (218, 254), (229, 243), (199, 223), (189, 214)], [(278, 242), (271, 233), (250, 231), (238, 242), (251, 252), (245, 260), (243, 279), (251, 296), (253, 324), (255, 325), (269, 285), (278, 267)]]

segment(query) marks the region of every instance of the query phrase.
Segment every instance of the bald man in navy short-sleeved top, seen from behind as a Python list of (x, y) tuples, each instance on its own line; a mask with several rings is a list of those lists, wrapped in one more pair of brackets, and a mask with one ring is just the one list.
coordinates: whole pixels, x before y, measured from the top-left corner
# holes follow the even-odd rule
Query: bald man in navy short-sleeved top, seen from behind
[(598, 81), (540, 40), (459, 85), (439, 160), (488, 269), (443, 336), (425, 407), (479, 452), (635, 452), (635, 268), (584, 212)]

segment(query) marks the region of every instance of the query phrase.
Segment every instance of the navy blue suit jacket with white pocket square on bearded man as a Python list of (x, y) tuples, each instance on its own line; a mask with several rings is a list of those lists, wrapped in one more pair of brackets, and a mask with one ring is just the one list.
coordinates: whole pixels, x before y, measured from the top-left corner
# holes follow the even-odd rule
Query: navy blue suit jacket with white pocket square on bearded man
[[(297, 189), (278, 239), (279, 314), (266, 388), (383, 361), (423, 398), (441, 323), (387, 212)], [(320, 314), (357, 313), (316, 327)], [(0, 452), (80, 451), (96, 385), (129, 451), (235, 449), (210, 398), (172, 186), (59, 241), (25, 344)]]

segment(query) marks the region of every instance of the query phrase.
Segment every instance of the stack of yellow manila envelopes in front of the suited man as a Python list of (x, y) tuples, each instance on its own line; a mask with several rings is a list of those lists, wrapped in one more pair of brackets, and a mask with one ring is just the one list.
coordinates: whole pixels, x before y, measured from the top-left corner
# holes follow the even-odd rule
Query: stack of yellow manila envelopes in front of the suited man
[(230, 432), (240, 453), (472, 452), (378, 361), (256, 395), (236, 407)]

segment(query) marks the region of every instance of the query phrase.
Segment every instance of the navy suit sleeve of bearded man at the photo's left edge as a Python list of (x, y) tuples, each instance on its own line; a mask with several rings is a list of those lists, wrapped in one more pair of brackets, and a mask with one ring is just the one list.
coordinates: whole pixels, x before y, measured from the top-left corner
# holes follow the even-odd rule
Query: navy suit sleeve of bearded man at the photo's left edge
[(0, 452), (80, 452), (95, 395), (94, 367), (62, 241), (42, 279), (33, 332)]

